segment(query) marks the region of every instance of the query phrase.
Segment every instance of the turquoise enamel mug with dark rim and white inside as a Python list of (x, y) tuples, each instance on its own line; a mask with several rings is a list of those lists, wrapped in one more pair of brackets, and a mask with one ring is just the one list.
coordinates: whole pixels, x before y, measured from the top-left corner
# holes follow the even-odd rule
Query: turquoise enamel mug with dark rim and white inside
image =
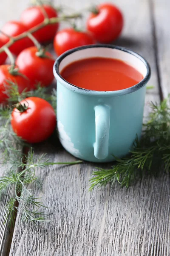
[[(91, 57), (116, 58), (143, 75), (138, 84), (116, 91), (82, 89), (65, 81), (61, 70), (71, 62)], [(54, 64), (57, 79), (57, 128), (63, 147), (75, 157), (91, 162), (111, 162), (125, 156), (136, 134), (142, 133), (147, 61), (124, 47), (96, 44), (71, 49)], [(105, 79), (105, 77), (103, 77)]]

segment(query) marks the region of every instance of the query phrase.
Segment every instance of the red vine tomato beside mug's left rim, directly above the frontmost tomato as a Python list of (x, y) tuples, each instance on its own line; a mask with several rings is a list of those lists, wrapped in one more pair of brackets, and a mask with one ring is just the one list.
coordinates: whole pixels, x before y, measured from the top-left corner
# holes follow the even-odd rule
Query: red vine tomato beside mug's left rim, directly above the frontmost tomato
[(17, 56), (15, 62), (21, 73), (30, 80), (31, 89), (35, 89), (39, 82), (41, 82), (42, 86), (48, 86), (54, 79), (53, 56), (49, 52), (45, 52), (48, 57), (39, 57), (36, 55), (37, 52), (37, 47), (24, 49)]

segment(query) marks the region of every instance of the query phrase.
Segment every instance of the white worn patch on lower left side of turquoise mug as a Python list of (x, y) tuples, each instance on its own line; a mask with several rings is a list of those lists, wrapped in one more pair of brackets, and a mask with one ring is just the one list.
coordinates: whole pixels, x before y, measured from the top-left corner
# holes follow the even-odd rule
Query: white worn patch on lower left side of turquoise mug
[(74, 154), (77, 157), (80, 157), (81, 153), (79, 152), (79, 150), (77, 148), (74, 148), (74, 143), (71, 142), (71, 138), (65, 132), (64, 125), (60, 121), (58, 121), (57, 127), (58, 127), (58, 131), (59, 131), (60, 142), (63, 145), (63, 147), (71, 154)]

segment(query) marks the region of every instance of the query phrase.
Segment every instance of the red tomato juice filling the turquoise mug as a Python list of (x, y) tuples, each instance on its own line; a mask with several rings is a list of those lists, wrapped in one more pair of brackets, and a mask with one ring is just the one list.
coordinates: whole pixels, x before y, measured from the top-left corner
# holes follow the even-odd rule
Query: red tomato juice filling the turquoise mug
[(88, 90), (114, 91), (131, 87), (143, 79), (134, 67), (113, 58), (85, 58), (68, 64), (61, 76)]

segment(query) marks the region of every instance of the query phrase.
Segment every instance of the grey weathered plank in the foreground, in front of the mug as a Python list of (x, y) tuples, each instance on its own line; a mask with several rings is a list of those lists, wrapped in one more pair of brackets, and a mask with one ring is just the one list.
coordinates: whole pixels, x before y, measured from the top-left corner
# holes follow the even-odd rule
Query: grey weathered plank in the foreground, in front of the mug
[[(48, 149), (52, 161), (74, 160), (62, 148), (48, 146), (41, 145), (37, 152)], [(168, 255), (167, 177), (143, 178), (129, 190), (116, 184), (88, 193), (94, 166), (54, 166), (37, 172), (45, 192), (37, 195), (50, 207), (51, 222), (26, 226), (19, 212), (10, 255), (150, 256), (163, 255), (161, 250)]]

